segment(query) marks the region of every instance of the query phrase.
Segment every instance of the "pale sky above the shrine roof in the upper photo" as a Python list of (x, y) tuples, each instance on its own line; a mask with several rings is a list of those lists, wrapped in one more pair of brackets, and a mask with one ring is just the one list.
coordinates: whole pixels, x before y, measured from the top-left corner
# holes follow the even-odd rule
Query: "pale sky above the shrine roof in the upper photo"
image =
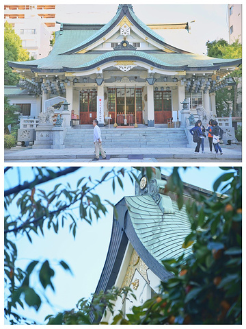
[[(135, 2), (135, 3), (134, 3)], [(206, 54), (206, 41), (223, 38), (229, 40), (228, 33), (228, 4), (222, 1), (206, 1), (197, 4), (197, 1), (189, 1), (188, 4), (180, 4), (172, 1), (172, 4), (163, 4), (163, 1), (154, 1), (146, 4), (146, 1), (134, 1), (133, 10), (137, 17), (146, 24), (157, 23), (190, 23), (191, 30), (165, 29), (156, 32), (165, 38), (170, 45), (191, 51), (193, 53)], [(105, 4), (76, 4), (68, 5), (67, 1), (59, 2), (56, 8), (56, 19), (61, 23), (108, 23), (116, 13), (118, 2), (107, 1)], [(132, 2), (131, 2), (132, 3)], [(141, 4), (139, 4), (141, 3)]]

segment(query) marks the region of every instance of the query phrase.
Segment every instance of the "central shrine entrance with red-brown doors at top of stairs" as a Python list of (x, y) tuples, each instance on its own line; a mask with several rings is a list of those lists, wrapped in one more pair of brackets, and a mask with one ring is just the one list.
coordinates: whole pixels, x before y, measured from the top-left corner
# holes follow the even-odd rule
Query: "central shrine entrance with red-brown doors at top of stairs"
[(134, 125), (143, 123), (142, 88), (108, 88), (111, 123)]

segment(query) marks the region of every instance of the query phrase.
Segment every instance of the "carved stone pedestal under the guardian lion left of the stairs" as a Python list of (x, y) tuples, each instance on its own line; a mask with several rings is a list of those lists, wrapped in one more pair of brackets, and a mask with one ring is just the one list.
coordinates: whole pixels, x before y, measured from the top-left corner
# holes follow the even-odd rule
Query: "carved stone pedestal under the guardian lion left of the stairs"
[(50, 149), (53, 143), (53, 123), (41, 123), (35, 128), (36, 141), (33, 149)]

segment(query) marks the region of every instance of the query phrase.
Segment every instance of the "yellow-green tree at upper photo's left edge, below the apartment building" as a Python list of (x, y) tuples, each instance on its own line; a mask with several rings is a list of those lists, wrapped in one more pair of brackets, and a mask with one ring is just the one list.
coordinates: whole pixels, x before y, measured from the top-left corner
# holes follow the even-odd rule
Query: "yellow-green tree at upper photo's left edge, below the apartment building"
[(12, 72), (8, 61), (19, 62), (29, 60), (29, 53), (23, 49), (21, 39), (14, 32), (8, 21), (4, 23), (4, 84), (14, 86), (20, 80), (18, 73)]

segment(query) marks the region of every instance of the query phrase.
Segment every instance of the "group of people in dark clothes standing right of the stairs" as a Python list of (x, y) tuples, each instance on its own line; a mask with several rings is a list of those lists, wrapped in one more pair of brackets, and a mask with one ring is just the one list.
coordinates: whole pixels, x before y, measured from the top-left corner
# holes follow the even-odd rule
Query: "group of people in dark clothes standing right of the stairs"
[[(223, 130), (219, 127), (217, 121), (210, 119), (207, 128), (202, 125), (202, 121), (198, 120), (195, 123), (195, 127), (191, 128), (190, 133), (193, 136), (193, 142), (197, 143), (195, 147), (195, 154), (205, 153), (204, 151), (204, 138), (206, 138), (206, 132), (208, 135), (209, 142), (209, 153), (213, 153), (213, 146), (215, 154), (223, 154), (221, 147), (219, 146), (219, 140), (222, 139)], [(200, 151), (200, 147), (202, 151)]]

